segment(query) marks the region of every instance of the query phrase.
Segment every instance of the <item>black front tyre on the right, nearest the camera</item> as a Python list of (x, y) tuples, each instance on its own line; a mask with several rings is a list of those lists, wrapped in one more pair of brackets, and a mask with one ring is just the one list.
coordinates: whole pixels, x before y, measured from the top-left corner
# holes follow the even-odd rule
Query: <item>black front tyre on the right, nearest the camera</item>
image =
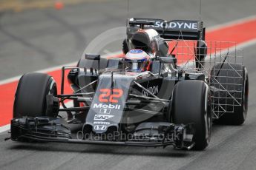
[(194, 123), (194, 149), (203, 150), (211, 139), (211, 96), (203, 81), (180, 81), (172, 96), (172, 122)]

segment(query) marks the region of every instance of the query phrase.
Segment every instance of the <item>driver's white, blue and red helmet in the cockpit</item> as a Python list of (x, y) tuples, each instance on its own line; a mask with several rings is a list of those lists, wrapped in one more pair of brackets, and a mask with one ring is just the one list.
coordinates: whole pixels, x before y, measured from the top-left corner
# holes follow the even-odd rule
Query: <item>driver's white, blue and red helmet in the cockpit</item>
[(150, 56), (143, 50), (134, 49), (125, 55), (125, 69), (129, 72), (145, 72), (150, 69)]

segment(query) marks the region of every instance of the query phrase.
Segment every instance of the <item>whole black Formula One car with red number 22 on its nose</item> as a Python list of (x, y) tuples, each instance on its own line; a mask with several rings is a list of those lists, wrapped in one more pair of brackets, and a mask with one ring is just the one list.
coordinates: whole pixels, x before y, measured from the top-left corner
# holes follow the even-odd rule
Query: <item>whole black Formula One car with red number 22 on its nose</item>
[(239, 50), (206, 42), (205, 30), (203, 21), (129, 18), (124, 56), (86, 54), (62, 67), (60, 94), (50, 75), (24, 74), (10, 138), (205, 149), (213, 121), (245, 121), (249, 88)]

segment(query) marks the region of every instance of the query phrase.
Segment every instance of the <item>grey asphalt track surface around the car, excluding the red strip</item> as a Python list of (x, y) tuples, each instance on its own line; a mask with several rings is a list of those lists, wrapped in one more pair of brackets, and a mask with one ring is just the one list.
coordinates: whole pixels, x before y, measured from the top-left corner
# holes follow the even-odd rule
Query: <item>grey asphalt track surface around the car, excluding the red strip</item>
[[(130, 16), (198, 18), (198, 1), (130, 1)], [(256, 1), (203, 1), (202, 19), (214, 27), (255, 15)], [(0, 81), (78, 60), (99, 33), (125, 24), (124, 1), (92, 2), (65, 10), (1, 13)], [(241, 30), (246, 31), (246, 30)], [(239, 34), (239, 32), (237, 33)], [(65, 143), (15, 143), (0, 135), (0, 169), (256, 169), (256, 44), (243, 48), (249, 71), (249, 112), (243, 126), (214, 125), (203, 152), (172, 147), (133, 148)], [(121, 49), (112, 47), (113, 51)], [(1, 99), (4, 100), (4, 99)]]

